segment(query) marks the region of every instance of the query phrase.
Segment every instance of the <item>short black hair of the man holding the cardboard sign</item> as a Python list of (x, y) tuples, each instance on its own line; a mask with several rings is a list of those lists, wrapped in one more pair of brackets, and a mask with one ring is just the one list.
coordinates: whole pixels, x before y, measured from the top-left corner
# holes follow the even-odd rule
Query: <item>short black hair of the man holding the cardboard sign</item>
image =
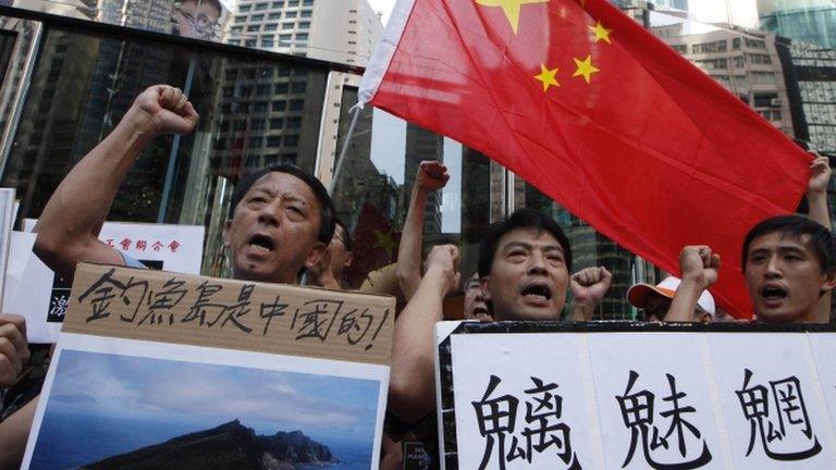
[(331, 237), (334, 236), (334, 201), (331, 200), (331, 196), (328, 194), (328, 189), (322, 186), (322, 183), (314, 175), (305, 170), (290, 163), (279, 163), (265, 166), (254, 173), (249, 173), (238, 181), (235, 186), (235, 190), (232, 191), (232, 200), (230, 201), (230, 214), (229, 218), (235, 215), (235, 208), (244, 199), (244, 195), (247, 194), (250, 187), (259, 181), (262, 176), (270, 173), (286, 173), (305, 182), (310, 190), (314, 191), (314, 196), (317, 197), (319, 202), (319, 235), (317, 239), (328, 245), (331, 243)]

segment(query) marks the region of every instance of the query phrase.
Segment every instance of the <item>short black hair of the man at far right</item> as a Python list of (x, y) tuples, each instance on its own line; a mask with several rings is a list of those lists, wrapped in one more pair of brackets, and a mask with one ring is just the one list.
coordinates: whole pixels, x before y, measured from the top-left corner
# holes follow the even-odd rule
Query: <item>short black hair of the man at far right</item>
[(746, 272), (746, 263), (749, 260), (749, 246), (752, 242), (763, 235), (779, 233), (782, 236), (800, 238), (804, 235), (810, 236), (808, 242), (815, 257), (819, 259), (819, 265), (823, 273), (836, 271), (836, 243), (833, 234), (819, 222), (812, 221), (806, 217), (791, 214), (778, 215), (766, 219), (755, 225), (746, 234), (743, 239), (742, 268)]

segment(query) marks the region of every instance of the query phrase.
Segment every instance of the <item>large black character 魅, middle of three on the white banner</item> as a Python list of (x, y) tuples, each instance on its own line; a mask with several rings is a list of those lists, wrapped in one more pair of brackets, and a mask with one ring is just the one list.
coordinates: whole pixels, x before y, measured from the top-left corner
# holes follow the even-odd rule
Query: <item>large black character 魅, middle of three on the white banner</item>
[[(654, 400), (655, 395), (647, 389), (632, 392), (632, 387), (639, 378), (636, 371), (630, 371), (627, 382), (627, 388), (623, 396), (616, 396), (618, 406), (622, 410), (622, 419), (625, 426), (630, 430), (630, 448), (622, 468), (627, 467), (632, 460), (639, 438), (641, 440), (642, 453), (647, 463), (656, 470), (686, 470), (704, 466), (711, 461), (711, 452), (709, 445), (702, 440), (700, 430), (688, 422), (683, 416), (693, 413), (697, 410), (691, 406), (684, 406), (683, 399), (687, 397), (685, 392), (676, 389), (676, 379), (671, 374), (667, 376), (667, 383), (671, 387), (671, 395), (663, 397), (662, 401), (669, 404), (669, 409), (659, 413), (660, 417), (668, 419), (669, 424), (664, 435), (660, 435), (659, 428), (654, 424)], [(702, 449), (699, 455), (692, 456), (688, 452), (688, 438), (686, 431), (692, 435), (696, 442), (702, 442)], [(679, 455), (678, 461), (661, 462), (654, 456), (654, 450), (660, 447), (668, 449), (672, 441), (676, 442), (676, 450)], [(693, 446), (691, 446), (693, 448)], [(699, 446), (698, 446), (699, 448)]]

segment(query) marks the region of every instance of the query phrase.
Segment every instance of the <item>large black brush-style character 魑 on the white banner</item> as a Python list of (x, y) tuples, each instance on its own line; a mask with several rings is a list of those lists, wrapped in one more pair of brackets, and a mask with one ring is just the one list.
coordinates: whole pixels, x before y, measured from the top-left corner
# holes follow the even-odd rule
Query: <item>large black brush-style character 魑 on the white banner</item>
[[(506, 463), (516, 459), (533, 462), (534, 455), (546, 454), (553, 449), (567, 470), (579, 470), (577, 455), (571, 449), (570, 429), (562, 421), (563, 398), (555, 393), (558, 385), (544, 383), (541, 379), (531, 378), (533, 387), (524, 391), (529, 399), (526, 401), (525, 422), (527, 425), (515, 435), (517, 430), (517, 407), (519, 399), (513, 395), (490, 398), (502, 380), (491, 375), (488, 388), (481, 401), (474, 401), (479, 432), (485, 438), (484, 454), (479, 470), (489, 468), (494, 458), (499, 468), (505, 469)], [(506, 453), (506, 443), (511, 437), (511, 449)], [(496, 453), (494, 454), (494, 447)]]

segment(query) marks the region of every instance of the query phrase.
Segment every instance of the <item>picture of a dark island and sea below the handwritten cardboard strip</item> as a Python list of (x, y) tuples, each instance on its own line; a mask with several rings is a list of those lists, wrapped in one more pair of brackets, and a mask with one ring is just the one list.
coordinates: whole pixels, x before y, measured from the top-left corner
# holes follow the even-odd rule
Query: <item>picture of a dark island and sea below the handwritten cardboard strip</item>
[(368, 470), (380, 382), (65, 349), (30, 469)]

